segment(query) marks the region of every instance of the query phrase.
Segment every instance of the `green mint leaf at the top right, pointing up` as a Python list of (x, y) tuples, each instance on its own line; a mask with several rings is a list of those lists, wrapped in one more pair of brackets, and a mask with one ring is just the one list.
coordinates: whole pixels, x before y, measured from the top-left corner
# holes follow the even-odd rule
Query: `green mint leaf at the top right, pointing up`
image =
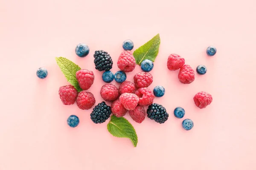
[(152, 62), (154, 62), (159, 51), (159, 46), (160, 36), (159, 34), (157, 34), (151, 40), (149, 40), (144, 45), (140, 46), (138, 49), (134, 51), (133, 55), (136, 60), (136, 63), (140, 65), (144, 59), (149, 59)]

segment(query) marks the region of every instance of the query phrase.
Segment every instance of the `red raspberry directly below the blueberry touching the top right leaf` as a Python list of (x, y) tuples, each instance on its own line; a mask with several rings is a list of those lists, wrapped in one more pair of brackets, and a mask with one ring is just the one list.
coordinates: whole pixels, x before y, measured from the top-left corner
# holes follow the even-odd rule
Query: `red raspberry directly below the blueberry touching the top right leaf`
[(141, 72), (134, 76), (134, 83), (137, 88), (146, 88), (153, 82), (153, 76), (150, 73)]

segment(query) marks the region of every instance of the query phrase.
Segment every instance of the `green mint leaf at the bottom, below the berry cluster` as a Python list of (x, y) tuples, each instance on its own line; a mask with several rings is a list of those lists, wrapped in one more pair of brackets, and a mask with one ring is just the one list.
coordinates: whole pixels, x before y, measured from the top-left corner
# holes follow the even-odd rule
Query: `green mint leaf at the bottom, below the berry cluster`
[(137, 146), (138, 137), (134, 127), (123, 117), (111, 116), (111, 120), (108, 123), (108, 131), (113, 136), (119, 138), (129, 138), (133, 143), (134, 147)]

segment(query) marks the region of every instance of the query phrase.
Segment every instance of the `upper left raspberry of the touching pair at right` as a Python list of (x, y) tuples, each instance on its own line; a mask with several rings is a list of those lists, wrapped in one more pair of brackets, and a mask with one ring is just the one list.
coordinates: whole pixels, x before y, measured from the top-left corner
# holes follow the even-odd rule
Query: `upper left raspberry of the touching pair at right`
[(185, 59), (177, 54), (170, 54), (167, 60), (167, 67), (169, 70), (180, 69), (185, 64)]

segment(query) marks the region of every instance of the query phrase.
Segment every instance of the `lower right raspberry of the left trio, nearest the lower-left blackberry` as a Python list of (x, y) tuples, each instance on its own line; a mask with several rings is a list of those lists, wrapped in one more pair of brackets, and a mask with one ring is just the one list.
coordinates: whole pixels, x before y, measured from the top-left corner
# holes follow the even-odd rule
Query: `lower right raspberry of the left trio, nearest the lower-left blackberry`
[(88, 110), (95, 104), (95, 98), (91, 92), (81, 91), (76, 98), (76, 104), (80, 109)]

